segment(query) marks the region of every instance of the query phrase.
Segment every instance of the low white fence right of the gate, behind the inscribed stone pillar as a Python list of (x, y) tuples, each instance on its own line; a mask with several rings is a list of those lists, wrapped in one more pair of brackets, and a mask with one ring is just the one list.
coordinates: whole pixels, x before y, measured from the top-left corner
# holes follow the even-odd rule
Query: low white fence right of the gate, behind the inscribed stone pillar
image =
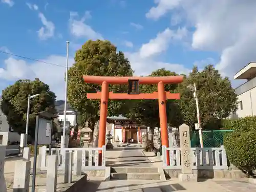
[[(164, 169), (181, 169), (181, 148), (162, 146), (163, 168)], [(169, 153), (169, 166), (166, 161), (166, 151)], [(227, 156), (224, 146), (200, 148), (193, 147), (190, 152), (193, 161), (192, 169), (228, 169)]]

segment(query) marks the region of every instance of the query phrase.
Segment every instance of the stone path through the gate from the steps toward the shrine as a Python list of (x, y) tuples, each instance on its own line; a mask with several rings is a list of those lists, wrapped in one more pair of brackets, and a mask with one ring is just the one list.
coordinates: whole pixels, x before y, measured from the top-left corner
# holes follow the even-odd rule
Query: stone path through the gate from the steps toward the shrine
[(117, 158), (109, 158), (109, 164), (113, 167), (117, 166), (153, 166), (150, 160), (142, 153), (143, 149), (136, 146), (120, 147), (120, 155)]

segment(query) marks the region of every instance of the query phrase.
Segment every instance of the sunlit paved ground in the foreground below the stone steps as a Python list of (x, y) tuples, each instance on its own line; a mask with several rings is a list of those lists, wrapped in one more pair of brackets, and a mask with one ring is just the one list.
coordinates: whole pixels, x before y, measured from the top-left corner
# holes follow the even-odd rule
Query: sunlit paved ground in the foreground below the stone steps
[[(217, 184), (214, 180), (207, 180), (203, 182), (187, 182), (180, 183), (178, 179), (172, 179), (169, 181), (154, 181), (154, 180), (112, 180), (112, 181), (88, 181), (87, 190), (80, 190), (81, 192), (172, 192), (172, 191), (184, 191), (184, 192), (237, 192), (230, 190)], [(255, 190), (240, 190), (246, 192), (254, 192)]]

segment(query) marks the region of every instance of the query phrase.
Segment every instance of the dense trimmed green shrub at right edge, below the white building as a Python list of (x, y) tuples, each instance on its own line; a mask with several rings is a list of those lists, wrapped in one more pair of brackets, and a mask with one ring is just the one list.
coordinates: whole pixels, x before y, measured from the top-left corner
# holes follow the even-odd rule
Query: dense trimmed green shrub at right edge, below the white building
[(230, 122), (233, 132), (224, 137), (228, 160), (248, 176), (256, 169), (256, 117)]

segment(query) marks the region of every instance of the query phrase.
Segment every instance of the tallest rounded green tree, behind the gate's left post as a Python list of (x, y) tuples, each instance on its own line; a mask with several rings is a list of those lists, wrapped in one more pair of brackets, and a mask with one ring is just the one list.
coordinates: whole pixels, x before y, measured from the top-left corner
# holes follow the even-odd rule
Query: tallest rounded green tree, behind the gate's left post
[[(133, 70), (129, 60), (108, 40), (89, 40), (76, 52), (75, 64), (68, 71), (68, 99), (71, 106), (83, 116), (79, 118), (88, 121), (94, 130), (94, 125), (99, 120), (100, 101), (87, 99), (87, 93), (101, 91), (101, 85), (84, 83), (82, 75), (132, 76)], [(110, 85), (109, 90), (122, 93), (127, 91), (127, 86)], [(127, 102), (129, 101), (110, 100), (108, 115), (125, 113)], [(94, 137), (94, 146), (97, 139)]]

